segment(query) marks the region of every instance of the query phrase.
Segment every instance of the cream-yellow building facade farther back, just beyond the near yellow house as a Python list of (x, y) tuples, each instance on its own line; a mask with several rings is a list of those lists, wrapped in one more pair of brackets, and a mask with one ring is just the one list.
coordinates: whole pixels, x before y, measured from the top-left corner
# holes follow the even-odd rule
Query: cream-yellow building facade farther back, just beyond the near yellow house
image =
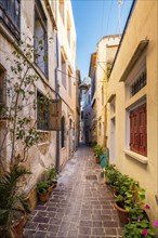
[(96, 111), (96, 141), (106, 147), (106, 114), (107, 114), (107, 82), (109, 71), (120, 41), (119, 35), (105, 36), (96, 44), (95, 68), (95, 111)]

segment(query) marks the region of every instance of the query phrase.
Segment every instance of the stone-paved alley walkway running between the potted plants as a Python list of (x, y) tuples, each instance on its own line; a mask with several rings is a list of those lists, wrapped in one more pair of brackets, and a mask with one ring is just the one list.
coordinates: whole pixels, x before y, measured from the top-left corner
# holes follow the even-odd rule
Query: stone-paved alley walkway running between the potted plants
[(121, 237), (114, 198), (101, 178), (92, 149), (79, 147), (45, 204), (38, 204), (25, 238)]

